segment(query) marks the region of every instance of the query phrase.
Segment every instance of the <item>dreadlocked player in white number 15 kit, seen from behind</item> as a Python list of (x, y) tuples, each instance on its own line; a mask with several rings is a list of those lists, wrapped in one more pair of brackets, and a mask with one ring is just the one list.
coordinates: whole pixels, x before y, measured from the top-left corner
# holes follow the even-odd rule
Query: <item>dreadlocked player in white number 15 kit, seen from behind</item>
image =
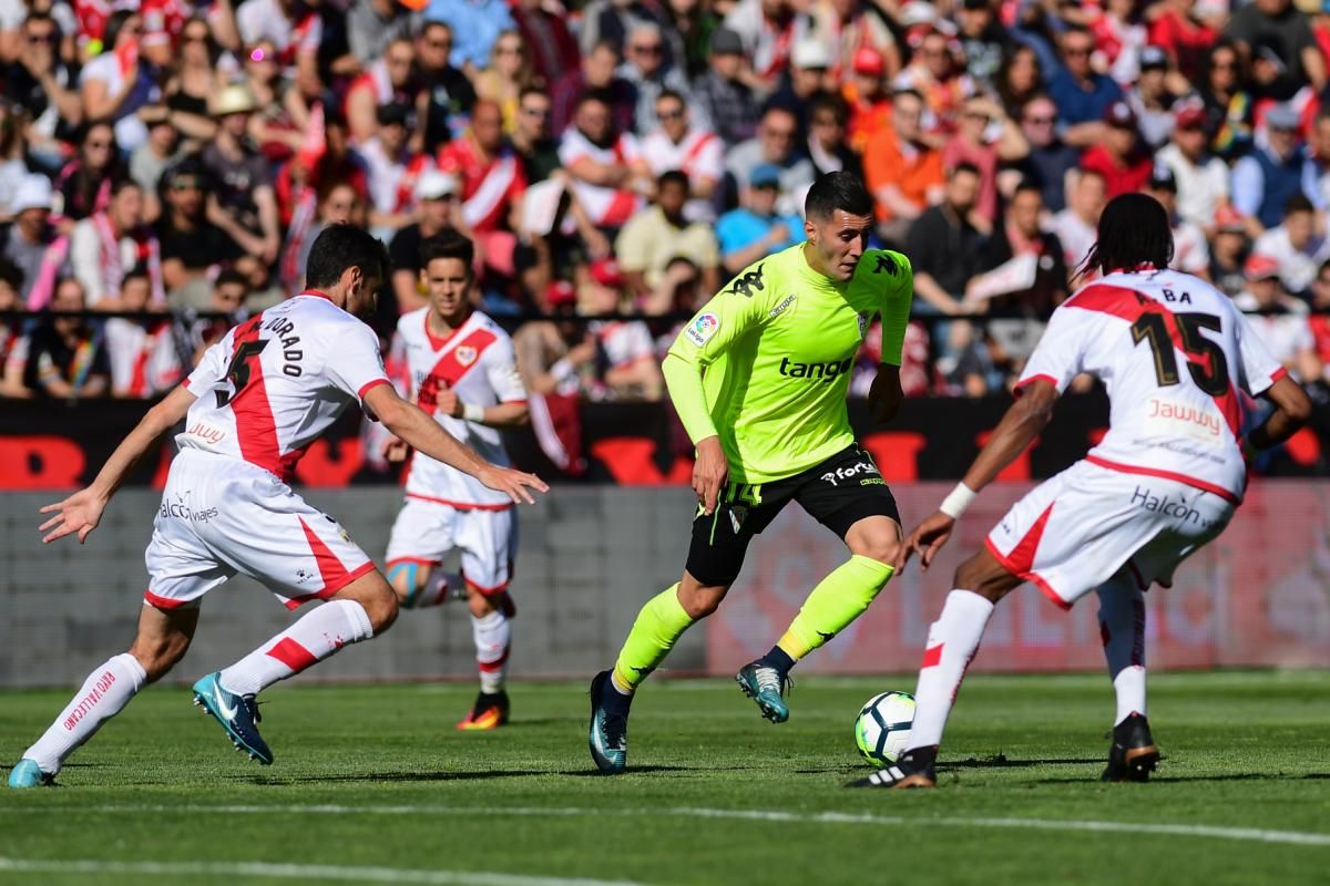
[[(923, 567), (975, 495), (1052, 417), (1072, 379), (1108, 389), (1109, 430), (1084, 460), (1012, 505), (956, 570), (928, 627), (910, 747), (854, 788), (932, 788), (947, 716), (979, 651), (994, 606), (1032, 582), (1061, 608), (1099, 592), (1117, 716), (1105, 781), (1148, 781), (1160, 754), (1145, 717), (1145, 603), (1154, 582), (1214, 539), (1246, 489), (1245, 456), (1287, 440), (1311, 402), (1270, 356), (1232, 300), (1168, 268), (1173, 232), (1152, 197), (1124, 194), (1104, 210), (1085, 268), (1103, 274), (1064, 302), (1016, 385), (1017, 400), (964, 480), (900, 549)], [(1275, 409), (1241, 436), (1240, 391)]]

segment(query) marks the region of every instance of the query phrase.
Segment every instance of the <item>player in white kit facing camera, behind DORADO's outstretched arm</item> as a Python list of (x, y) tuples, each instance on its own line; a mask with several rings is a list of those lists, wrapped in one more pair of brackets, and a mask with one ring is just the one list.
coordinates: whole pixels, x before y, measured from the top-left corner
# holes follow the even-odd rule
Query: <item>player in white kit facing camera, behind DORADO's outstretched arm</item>
[[(402, 315), (394, 353), (410, 376), (412, 402), (488, 461), (507, 465), (501, 429), (527, 424), (527, 391), (512, 339), (471, 306), (473, 262), (471, 240), (456, 231), (420, 244), (430, 303)], [(400, 461), (407, 445), (395, 438), (387, 454)], [(517, 514), (507, 495), (427, 454), (411, 458), (384, 567), (403, 608), (438, 606), (454, 591), (467, 596), (480, 693), (458, 729), (493, 729), (508, 720), (504, 677), (516, 614), (508, 582), (516, 546)], [(460, 575), (442, 569), (452, 550), (462, 553)]]

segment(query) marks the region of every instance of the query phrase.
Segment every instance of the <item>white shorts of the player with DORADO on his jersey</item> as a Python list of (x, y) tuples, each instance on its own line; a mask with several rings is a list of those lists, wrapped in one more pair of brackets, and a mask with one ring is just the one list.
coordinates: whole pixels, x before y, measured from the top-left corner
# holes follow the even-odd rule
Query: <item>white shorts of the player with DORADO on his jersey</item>
[(162, 610), (197, 604), (237, 573), (294, 610), (374, 570), (335, 519), (281, 480), (193, 449), (172, 461), (144, 561), (145, 600)]

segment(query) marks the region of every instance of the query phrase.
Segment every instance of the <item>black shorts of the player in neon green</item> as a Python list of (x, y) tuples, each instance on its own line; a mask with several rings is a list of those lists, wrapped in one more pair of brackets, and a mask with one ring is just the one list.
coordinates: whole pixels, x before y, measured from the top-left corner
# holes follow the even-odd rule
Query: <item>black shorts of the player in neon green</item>
[(864, 517), (900, 522), (896, 499), (872, 457), (854, 444), (794, 477), (761, 485), (732, 481), (710, 517), (698, 506), (688, 549), (689, 574), (708, 587), (732, 584), (743, 567), (749, 542), (790, 501), (842, 539)]

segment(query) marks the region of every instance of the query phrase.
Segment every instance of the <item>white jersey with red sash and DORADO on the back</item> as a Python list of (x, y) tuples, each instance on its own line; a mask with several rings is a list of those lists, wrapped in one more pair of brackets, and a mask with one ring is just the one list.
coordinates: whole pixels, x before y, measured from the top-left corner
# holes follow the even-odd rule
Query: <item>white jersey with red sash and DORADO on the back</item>
[(370, 327), (322, 292), (302, 292), (229, 331), (185, 384), (198, 400), (181, 448), (290, 480), (309, 445), (388, 377)]

